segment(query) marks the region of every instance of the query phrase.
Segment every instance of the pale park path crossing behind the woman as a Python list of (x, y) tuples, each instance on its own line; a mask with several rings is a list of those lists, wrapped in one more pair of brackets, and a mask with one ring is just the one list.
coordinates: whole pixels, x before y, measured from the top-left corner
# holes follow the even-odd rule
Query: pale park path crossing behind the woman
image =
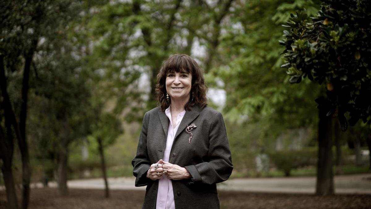
[[(109, 188), (118, 190), (145, 190), (135, 187), (134, 177), (109, 178)], [(229, 179), (217, 184), (218, 190), (269, 192), (269, 193), (307, 193), (314, 194), (315, 177), (282, 177), (282, 178), (243, 178)], [(56, 187), (55, 182), (49, 183)], [(40, 183), (32, 187), (42, 187)], [(102, 179), (84, 179), (68, 181), (69, 188), (104, 189)], [(335, 176), (336, 194), (371, 194), (371, 173)]]

